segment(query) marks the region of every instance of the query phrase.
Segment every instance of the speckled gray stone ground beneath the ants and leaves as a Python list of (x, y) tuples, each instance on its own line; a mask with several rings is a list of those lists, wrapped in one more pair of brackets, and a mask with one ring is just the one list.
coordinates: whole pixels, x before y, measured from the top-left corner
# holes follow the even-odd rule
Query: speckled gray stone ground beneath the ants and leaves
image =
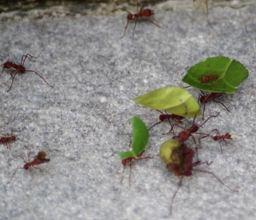
[[(6, 92), (10, 70), (0, 76), (0, 135), (15, 130), (17, 138), (27, 141), (11, 143), (11, 150), (0, 147), (0, 219), (255, 219), (256, 4), (245, 4), (233, 9), (209, 2), (210, 26), (204, 2), (203, 7), (190, 0), (158, 4), (155, 19), (162, 28), (138, 22), (132, 36), (131, 22), (123, 39), (122, 11), (108, 16), (73, 11), (75, 16), (69, 16), (67, 8), (53, 7), (0, 14), (0, 57), (19, 63), (23, 54), (40, 55), (24, 66), (54, 86), (24, 73), (16, 75)], [(102, 156), (128, 149), (133, 116), (148, 127), (158, 122), (158, 112), (137, 107), (132, 98), (164, 86), (186, 86), (181, 80), (188, 68), (216, 55), (240, 61), (250, 75), (235, 94), (219, 99), (228, 102), (232, 113), (221, 104), (207, 103), (205, 117), (220, 116), (200, 132), (218, 128), (221, 134), (242, 137), (223, 141), (223, 155), (218, 142), (204, 139), (199, 158), (213, 163), (200, 169), (214, 172), (239, 193), (209, 174), (194, 172), (184, 177), (170, 216), (180, 177), (158, 156), (160, 145), (172, 138), (161, 135), (169, 130), (168, 122), (150, 130), (144, 156), (155, 158), (132, 163), (131, 187), (129, 167), (120, 183), (121, 159)], [(196, 98), (200, 94), (188, 90)], [(187, 145), (194, 148), (192, 139)], [(43, 173), (19, 169), (6, 185), (24, 165), (14, 157), (29, 153), (32, 159), (42, 150), (51, 160), (40, 165)]]

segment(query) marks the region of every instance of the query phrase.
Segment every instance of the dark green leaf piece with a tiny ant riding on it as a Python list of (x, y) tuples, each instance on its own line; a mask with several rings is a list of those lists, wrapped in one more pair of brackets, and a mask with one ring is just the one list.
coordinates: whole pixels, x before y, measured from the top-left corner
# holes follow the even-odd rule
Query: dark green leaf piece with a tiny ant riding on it
[[(194, 88), (220, 93), (235, 93), (238, 85), (247, 79), (248, 70), (242, 63), (228, 57), (211, 57), (191, 67), (182, 79), (184, 83)], [(202, 83), (203, 77), (217, 76)]]

